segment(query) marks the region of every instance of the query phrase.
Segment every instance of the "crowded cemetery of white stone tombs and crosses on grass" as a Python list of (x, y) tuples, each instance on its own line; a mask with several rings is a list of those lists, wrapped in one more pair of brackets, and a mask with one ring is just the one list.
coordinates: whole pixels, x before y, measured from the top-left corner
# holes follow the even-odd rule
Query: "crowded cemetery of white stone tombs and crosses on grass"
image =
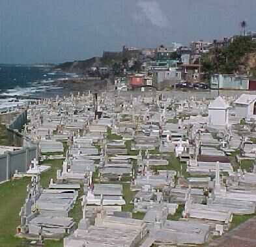
[(256, 115), (241, 116), (250, 102), (117, 90), (38, 99), (21, 130), (21, 149), (38, 155), (12, 175), (24, 184), (12, 240), (150, 247), (227, 234), (255, 216)]

